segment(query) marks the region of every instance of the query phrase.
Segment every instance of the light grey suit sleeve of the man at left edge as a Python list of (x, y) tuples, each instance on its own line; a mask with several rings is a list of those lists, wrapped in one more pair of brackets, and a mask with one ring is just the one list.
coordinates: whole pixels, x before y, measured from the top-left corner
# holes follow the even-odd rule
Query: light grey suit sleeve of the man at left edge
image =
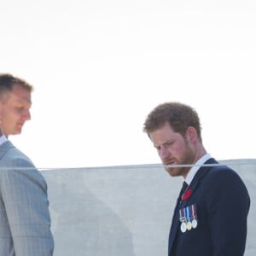
[[(14, 166), (23, 166), (17, 168)], [(15, 159), (2, 175), (2, 195), (16, 256), (53, 255), (44, 177), (26, 159)]]

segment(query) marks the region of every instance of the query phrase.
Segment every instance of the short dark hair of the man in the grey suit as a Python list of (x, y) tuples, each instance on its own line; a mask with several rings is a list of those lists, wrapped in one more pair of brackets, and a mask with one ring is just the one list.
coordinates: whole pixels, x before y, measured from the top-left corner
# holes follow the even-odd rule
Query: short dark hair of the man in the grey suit
[(15, 84), (30, 92), (33, 90), (32, 84), (28, 84), (24, 79), (17, 78), (10, 73), (0, 73), (0, 99), (5, 92), (13, 90)]

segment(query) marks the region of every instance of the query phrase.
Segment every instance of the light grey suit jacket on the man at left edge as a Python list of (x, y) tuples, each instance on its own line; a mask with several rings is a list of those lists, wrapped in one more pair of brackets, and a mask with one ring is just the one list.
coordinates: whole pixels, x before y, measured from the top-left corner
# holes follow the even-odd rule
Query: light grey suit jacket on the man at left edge
[(44, 177), (9, 141), (0, 145), (0, 255), (53, 255)]

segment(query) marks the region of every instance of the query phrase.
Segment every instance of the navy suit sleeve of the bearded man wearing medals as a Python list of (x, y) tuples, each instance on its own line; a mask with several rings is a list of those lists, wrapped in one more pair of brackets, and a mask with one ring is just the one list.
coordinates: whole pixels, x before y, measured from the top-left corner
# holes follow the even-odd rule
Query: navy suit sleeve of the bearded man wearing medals
[(249, 195), (241, 178), (231, 170), (212, 175), (206, 202), (214, 256), (244, 255)]

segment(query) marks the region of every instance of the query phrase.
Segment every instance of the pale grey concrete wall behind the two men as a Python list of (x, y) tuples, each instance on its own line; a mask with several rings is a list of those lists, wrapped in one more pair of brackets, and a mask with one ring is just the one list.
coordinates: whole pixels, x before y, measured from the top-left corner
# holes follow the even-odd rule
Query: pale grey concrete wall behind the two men
[[(224, 160), (251, 196), (246, 256), (256, 255), (256, 160)], [(48, 183), (55, 256), (166, 256), (182, 178), (160, 165), (41, 171)]]

